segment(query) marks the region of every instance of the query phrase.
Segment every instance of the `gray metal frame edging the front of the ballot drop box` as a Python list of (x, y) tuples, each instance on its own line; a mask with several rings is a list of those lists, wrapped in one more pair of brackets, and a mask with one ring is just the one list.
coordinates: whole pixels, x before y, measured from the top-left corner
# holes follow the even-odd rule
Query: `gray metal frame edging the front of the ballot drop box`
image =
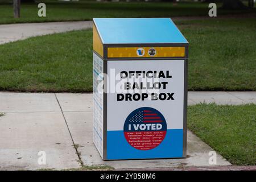
[[(97, 32), (98, 28), (96, 24), (94, 24)], [(99, 32), (98, 32), (99, 34)], [(99, 34), (100, 36), (100, 34)], [(100, 36), (101, 37), (101, 36)], [(102, 41), (102, 40), (101, 40)], [(103, 45), (103, 57), (102, 60), (104, 61), (104, 68), (103, 72), (104, 74), (108, 74), (108, 60), (184, 60), (184, 107), (183, 107), (183, 156), (182, 158), (187, 157), (187, 102), (188, 102), (188, 43), (146, 43), (146, 44), (102, 44)], [(185, 47), (185, 56), (184, 57), (116, 57), (116, 58), (108, 58), (108, 47)], [(104, 78), (104, 90), (108, 88), (107, 80)], [(103, 96), (103, 160), (109, 160), (107, 159), (107, 114), (108, 114), (108, 94), (104, 92)], [(159, 158), (163, 159), (163, 158)], [(131, 159), (129, 159), (131, 160)]]

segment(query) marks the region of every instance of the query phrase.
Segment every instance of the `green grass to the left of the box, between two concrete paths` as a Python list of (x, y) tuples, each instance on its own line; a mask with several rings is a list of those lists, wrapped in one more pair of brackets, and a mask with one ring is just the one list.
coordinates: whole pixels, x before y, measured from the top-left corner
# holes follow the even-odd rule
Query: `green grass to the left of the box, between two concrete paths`
[(0, 90), (92, 92), (92, 30), (0, 45)]

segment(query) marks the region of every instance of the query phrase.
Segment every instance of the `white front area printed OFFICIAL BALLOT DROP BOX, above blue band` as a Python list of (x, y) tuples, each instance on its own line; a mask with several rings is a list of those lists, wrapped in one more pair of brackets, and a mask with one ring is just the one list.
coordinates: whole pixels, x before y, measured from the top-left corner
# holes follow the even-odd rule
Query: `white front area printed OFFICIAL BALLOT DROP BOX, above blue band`
[[(131, 111), (139, 107), (152, 107), (160, 111), (166, 119), (167, 129), (183, 129), (183, 104), (184, 104), (184, 60), (132, 60), (132, 61), (108, 61), (108, 73), (115, 72), (116, 75), (125, 71), (129, 72), (156, 72), (163, 73), (164, 76), (158, 79), (158, 82), (162, 83), (160, 89), (154, 89), (158, 96), (162, 94), (163, 100), (158, 98), (157, 100), (149, 100), (144, 98), (144, 100), (139, 99), (134, 100), (133, 96), (131, 100), (121, 100), (118, 92), (108, 94), (108, 131), (123, 130), (123, 124), (127, 116)], [(168, 75), (167, 75), (168, 74)], [(134, 74), (135, 75), (135, 74)], [(118, 77), (118, 76), (117, 76)], [(168, 78), (167, 78), (168, 77)], [(109, 76), (110, 79), (110, 76)], [(133, 78), (131, 78), (132, 80)], [(113, 79), (112, 79), (113, 80)], [(122, 80), (122, 79), (121, 79)], [(115, 81), (115, 85), (118, 84), (118, 80)], [(154, 79), (153, 79), (154, 82)], [(167, 82), (167, 83), (166, 83)], [(151, 82), (152, 83), (152, 82)], [(134, 85), (134, 82), (131, 82)], [(138, 82), (141, 86), (141, 83)], [(108, 91), (111, 91), (110, 84), (108, 85)], [(137, 86), (137, 85), (136, 85)], [(165, 88), (164, 88), (165, 86)], [(142, 85), (142, 89), (145, 89), (147, 84)], [(128, 92), (138, 92), (140, 89), (130, 89)], [(118, 91), (117, 89), (115, 91)], [(123, 92), (125, 89), (120, 89)], [(119, 92), (119, 93), (121, 93)], [(169, 98), (171, 94), (172, 98)], [(125, 95), (125, 94), (124, 94)], [(141, 94), (142, 96), (142, 94)], [(166, 99), (164, 97), (166, 96)], [(126, 96), (127, 97), (127, 96)], [(173, 100), (172, 100), (173, 99)]]

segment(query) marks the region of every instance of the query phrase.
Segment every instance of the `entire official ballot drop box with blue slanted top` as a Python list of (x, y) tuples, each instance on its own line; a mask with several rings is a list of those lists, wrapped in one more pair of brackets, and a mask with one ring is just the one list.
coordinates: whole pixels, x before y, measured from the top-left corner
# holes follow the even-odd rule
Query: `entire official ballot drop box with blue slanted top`
[(186, 157), (187, 59), (169, 18), (93, 19), (93, 142), (102, 159)]

